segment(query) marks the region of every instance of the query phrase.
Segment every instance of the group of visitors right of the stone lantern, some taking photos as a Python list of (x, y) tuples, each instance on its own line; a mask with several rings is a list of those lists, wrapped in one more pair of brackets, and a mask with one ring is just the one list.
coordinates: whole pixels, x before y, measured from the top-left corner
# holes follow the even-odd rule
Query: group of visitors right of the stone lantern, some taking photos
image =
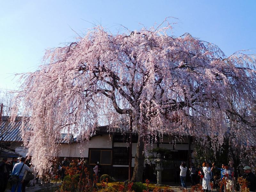
[[(221, 168), (218, 168), (215, 166), (215, 164), (212, 164), (212, 167), (210, 166), (210, 163), (203, 163), (202, 167), (199, 165), (196, 169), (194, 165), (192, 164), (189, 168), (189, 174), (191, 179), (191, 185), (201, 184), (202, 189), (205, 192), (211, 191), (212, 187), (217, 186), (220, 181), (225, 180), (226, 186), (223, 184), (219, 187), (221, 188), (221, 191), (224, 192), (228, 189), (230, 192), (235, 191), (235, 179), (234, 179), (234, 170), (233, 168), (229, 167), (228, 164), (222, 164)], [(177, 164), (174, 165), (176, 175), (174, 177), (175, 183), (177, 182), (177, 173), (178, 173), (178, 167)], [(220, 171), (220, 177), (217, 175), (214, 175), (213, 170), (217, 169)], [(248, 181), (248, 188), (250, 191), (254, 192), (256, 190), (256, 177), (251, 171), (251, 167), (245, 166), (243, 168), (244, 170), (244, 179)], [(183, 188), (187, 188), (186, 185), (186, 176), (187, 176), (188, 168), (186, 167), (186, 163), (183, 162), (180, 165), (180, 182)]]

